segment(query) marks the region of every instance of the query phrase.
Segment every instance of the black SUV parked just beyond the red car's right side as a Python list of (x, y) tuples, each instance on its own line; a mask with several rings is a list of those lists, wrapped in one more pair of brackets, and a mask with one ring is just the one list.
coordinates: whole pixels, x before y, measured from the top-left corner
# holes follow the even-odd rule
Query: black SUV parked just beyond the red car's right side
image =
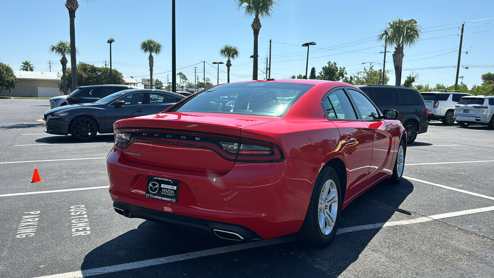
[(417, 90), (401, 86), (365, 85), (357, 86), (366, 93), (382, 111), (398, 110), (398, 120), (407, 130), (407, 143), (412, 143), (417, 134), (427, 132), (427, 108)]

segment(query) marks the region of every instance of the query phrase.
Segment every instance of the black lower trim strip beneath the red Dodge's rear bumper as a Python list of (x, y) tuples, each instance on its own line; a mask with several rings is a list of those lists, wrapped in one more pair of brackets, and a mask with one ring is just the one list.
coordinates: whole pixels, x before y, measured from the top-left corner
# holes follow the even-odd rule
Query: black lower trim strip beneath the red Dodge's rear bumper
[(211, 234), (215, 234), (213, 230), (234, 232), (241, 235), (243, 238), (234, 240), (252, 241), (262, 239), (261, 236), (259, 236), (255, 232), (252, 232), (250, 229), (235, 224), (210, 221), (201, 218), (148, 209), (117, 200), (113, 200), (113, 207), (117, 213), (122, 214), (128, 218), (146, 219), (153, 222), (165, 223), (182, 229), (192, 230), (195, 232), (206, 232)]

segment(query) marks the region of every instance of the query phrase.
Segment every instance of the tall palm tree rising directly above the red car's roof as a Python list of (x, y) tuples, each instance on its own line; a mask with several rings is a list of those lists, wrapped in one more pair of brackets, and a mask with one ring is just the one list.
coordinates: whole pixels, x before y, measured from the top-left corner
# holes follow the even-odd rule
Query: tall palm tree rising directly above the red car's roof
[[(254, 31), (254, 65), (252, 68), (252, 79), (257, 80), (257, 38), (261, 30), (261, 18), (270, 18), (273, 14), (274, 7), (278, 4), (275, 0), (235, 0), (237, 9), (244, 10), (245, 16), (254, 16), (250, 27)], [(245, 5), (244, 5), (245, 4)]]

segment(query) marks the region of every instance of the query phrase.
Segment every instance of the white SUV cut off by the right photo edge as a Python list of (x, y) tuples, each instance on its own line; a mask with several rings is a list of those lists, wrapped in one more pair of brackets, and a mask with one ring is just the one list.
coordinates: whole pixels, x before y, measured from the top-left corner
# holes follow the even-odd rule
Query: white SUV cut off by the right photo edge
[(494, 95), (464, 96), (454, 107), (454, 119), (460, 127), (481, 124), (494, 128)]

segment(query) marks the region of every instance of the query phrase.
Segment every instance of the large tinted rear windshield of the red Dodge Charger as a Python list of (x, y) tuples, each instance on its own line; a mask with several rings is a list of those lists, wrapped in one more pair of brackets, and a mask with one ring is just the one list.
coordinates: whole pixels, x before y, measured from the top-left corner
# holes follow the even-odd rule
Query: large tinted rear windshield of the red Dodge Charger
[(224, 84), (185, 99), (172, 112), (212, 112), (282, 117), (314, 85), (251, 82)]

